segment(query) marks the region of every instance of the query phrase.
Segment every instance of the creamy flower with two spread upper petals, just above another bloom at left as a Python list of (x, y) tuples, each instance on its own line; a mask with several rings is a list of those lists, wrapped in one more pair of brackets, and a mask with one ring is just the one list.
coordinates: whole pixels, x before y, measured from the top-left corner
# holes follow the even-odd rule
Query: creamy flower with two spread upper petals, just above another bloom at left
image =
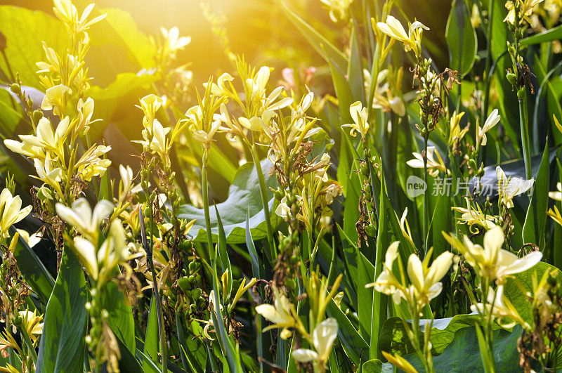
[(60, 218), (76, 228), (79, 233), (96, 242), (100, 223), (112, 213), (113, 204), (102, 199), (92, 211), (88, 201), (80, 198), (72, 204), (72, 208), (58, 203), (55, 205), (55, 209)]

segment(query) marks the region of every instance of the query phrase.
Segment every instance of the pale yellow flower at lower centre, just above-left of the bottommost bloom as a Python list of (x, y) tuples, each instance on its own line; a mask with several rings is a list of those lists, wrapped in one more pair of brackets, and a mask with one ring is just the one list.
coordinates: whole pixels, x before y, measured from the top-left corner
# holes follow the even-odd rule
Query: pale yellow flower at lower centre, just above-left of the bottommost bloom
[(263, 332), (267, 332), (270, 329), (282, 328), (281, 338), (287, 339), (291, 336), (289, 328), (296, 327), (296, 310), (293, 304), (287, 299), (285, 294), (282, 294), (280, 289), (273, 287), (273, 304), (260, 304), (256, 306), (256, 312), (262, 315), (264, 318), (273, 322), (273, 325), (269, 325), (263, 329)]

